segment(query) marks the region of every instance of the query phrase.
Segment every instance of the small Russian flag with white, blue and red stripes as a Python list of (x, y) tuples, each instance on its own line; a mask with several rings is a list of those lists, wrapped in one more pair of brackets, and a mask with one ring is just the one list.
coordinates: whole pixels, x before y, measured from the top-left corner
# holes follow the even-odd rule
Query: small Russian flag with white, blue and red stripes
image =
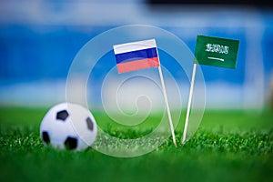
[(155, 39), (114, 45), (114, 52), (119, 74), (159, 66)]

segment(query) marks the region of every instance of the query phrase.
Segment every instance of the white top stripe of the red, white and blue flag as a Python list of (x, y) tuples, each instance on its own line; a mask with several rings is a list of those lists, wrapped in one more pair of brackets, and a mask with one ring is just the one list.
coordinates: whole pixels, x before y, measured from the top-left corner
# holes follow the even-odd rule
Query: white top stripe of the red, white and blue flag
[(137, 42), (126, 43), (121, 45), (114, 45), (114, 52), (115, 52), (115, 55), (117, 55), (121, 53), (138, 51), (138, 50), (153, 48), (153, 47), (157, 47), (156, 40), (149, 39), (149, 40), (137, 41)]

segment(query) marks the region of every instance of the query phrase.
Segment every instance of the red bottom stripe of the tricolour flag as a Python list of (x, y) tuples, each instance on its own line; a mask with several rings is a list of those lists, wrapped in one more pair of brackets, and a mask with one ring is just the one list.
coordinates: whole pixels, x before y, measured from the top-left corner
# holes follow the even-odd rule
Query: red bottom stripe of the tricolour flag
[(159, 62), (158, 62), (158, 57), (153, 57), (153, 58), (141, 59), (141, 60), (126, 62), (126, 63), (120, 63), (120, 64), (117, 64), (116, 66), (117, 66), (118, 73), (121, 74), (121, 73), (126, 73), (129, 71), (136, 71), (138, 69), (158, 67)]

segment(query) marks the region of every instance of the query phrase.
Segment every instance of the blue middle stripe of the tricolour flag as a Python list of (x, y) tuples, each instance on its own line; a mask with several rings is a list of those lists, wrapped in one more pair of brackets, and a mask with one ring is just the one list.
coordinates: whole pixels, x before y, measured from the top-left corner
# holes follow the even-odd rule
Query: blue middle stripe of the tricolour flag
[(147, 48), (127, 53), (116, 54), (116, 64), (157, 57), (157, 48)]

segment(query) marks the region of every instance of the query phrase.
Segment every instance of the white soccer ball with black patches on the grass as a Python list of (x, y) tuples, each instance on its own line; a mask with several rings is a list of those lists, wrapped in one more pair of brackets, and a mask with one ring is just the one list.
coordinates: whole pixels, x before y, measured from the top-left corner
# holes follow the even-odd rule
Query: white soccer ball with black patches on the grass
[(96, 139), (96, 121), (84, 106), (62, 103), (53, 106), (44, 116), (40, 136), (45, 146), (84, 150)]

